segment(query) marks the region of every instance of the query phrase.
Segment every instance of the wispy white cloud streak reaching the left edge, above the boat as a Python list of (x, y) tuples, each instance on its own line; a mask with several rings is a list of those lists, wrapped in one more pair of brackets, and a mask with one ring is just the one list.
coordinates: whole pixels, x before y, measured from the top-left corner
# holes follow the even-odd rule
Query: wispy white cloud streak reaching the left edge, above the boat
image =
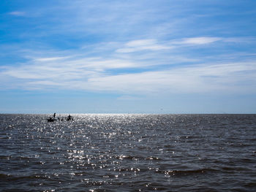
[[(17, 80), (28, 80), (29, 82), (64, 82), (64, 81), (86, 81), (89, 77), (101, 75), (108, 69), (138, 68), (142, 66), (138, 62), (127, 59), (104, 59), (104, 58), (79, 58), (75, 56), (31, 58), (25, 64), (19, 66), (3, 66), (1, 74), (14, 77)], [(53, 84), (54, 84), (53, 83)], [(36, 83), (30, 83), (35, 85)]]

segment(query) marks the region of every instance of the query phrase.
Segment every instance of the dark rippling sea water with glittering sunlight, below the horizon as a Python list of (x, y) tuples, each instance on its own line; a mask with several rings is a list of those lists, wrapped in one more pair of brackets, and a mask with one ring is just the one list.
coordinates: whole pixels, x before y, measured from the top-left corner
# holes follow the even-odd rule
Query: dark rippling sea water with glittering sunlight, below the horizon
[(256, 191), (256, 115), (0, 115), (0, 191)]

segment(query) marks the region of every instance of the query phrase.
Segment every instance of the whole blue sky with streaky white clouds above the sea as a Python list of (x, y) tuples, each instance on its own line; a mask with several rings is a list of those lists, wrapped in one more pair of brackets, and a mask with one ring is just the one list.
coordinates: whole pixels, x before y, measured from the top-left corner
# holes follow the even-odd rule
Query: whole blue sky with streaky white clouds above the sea
[(256, 113), (255, 0), (1, 0), (0, 113)]

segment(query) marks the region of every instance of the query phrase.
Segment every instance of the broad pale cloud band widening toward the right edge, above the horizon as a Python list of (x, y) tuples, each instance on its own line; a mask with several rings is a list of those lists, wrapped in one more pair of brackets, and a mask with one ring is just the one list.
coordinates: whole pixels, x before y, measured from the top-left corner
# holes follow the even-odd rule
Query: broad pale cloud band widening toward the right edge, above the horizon
[[(122, 93), (239, 92), (256, 85), (254, 63), (188, 66), (158, 72), (89, 78), (86, 86), (97, 91)], [(249, 86), (240, 85), (249, 82)]]

